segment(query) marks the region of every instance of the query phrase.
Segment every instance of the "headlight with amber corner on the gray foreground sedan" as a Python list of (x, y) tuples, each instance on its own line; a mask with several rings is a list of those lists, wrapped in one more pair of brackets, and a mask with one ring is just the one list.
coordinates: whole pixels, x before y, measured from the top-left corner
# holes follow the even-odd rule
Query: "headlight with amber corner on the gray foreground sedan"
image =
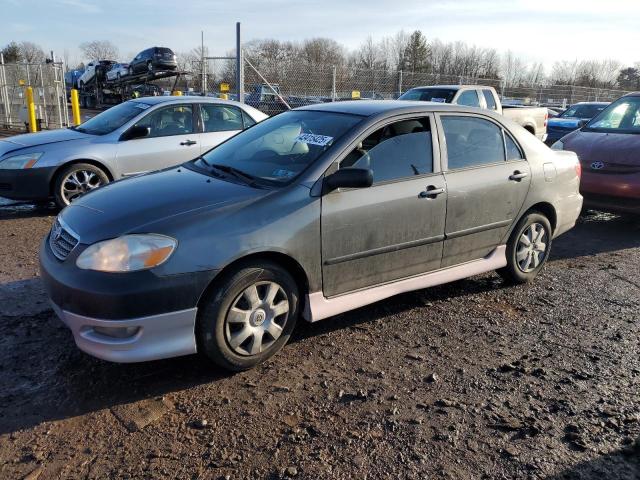
[(162, 265), (177, 245), (177, 240), (164, 235), (124, 235), (94, 243), (80, 254), (76, 265), (99, 272), (135, 272)]

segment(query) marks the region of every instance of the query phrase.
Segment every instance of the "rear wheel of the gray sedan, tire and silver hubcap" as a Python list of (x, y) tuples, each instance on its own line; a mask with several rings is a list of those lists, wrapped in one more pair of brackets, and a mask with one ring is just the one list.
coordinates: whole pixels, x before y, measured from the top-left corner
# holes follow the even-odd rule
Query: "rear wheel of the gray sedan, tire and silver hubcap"
[(539, 212), (525, 215), (507, 242), (507, 266), (498, 270), (512, 283), (531, 282), (549, 258), (553, 231), (547, 217)]

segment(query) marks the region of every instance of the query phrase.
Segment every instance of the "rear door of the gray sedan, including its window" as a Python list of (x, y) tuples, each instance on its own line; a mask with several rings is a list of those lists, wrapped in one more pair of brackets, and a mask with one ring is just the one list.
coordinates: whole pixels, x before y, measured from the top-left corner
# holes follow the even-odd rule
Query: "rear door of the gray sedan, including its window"
[(482, 258), (504, 241), (529, 191), (531, 170), (493, 119), (440, 114), (438, 130), (448, 191), (442, 266), (448, 267)]

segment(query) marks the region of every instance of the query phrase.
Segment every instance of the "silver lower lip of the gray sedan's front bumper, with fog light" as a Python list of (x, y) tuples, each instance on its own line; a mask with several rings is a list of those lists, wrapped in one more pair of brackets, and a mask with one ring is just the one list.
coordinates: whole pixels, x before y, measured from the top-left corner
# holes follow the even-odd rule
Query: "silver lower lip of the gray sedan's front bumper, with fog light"
[(53, 309), (78, 348), (102, 360), (146, 362), (196, 353), (196, 308), (127, 320), (85, 317), (55, 303)]

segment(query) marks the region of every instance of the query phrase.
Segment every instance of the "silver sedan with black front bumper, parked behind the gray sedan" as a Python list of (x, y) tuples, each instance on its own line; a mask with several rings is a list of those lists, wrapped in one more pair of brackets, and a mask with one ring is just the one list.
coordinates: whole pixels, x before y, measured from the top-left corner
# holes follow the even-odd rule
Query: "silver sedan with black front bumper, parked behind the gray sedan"
[(0, 197), (64, 207), (113, 180), (193, 160), (267, 116), (203, 97), (148, 97), (77, 127), (0, 140)]

